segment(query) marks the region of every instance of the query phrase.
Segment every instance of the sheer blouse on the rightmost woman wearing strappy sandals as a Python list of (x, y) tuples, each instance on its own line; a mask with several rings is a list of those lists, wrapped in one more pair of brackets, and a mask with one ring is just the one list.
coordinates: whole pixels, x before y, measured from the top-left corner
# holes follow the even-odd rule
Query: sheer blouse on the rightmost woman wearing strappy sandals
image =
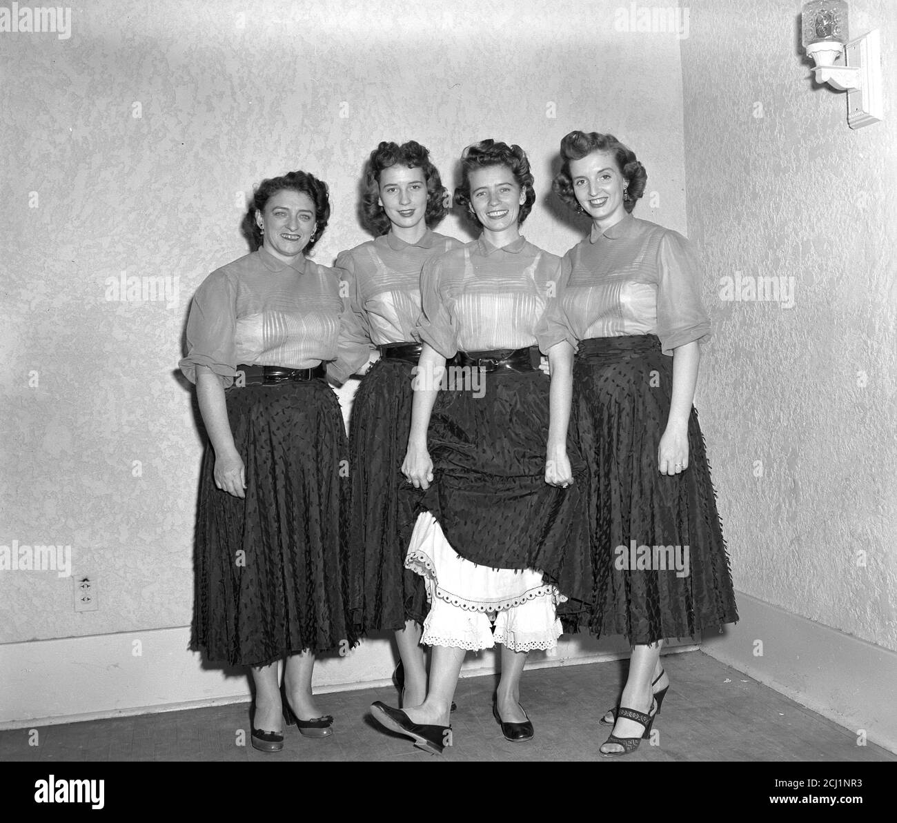
[(701, 263), (676, 231), (627, 214), (562, 260), (557, 299), (546, 314), (543, 351), (567, 340), (657, 334), (664, 354), (710, 338)]

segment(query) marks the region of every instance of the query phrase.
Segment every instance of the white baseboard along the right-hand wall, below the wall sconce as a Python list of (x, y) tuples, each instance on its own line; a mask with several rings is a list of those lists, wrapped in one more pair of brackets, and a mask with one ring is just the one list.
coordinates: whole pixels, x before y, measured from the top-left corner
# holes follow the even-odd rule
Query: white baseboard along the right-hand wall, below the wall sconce
[[(701, 651), (897, 752), (897, 653), (736, 593), (740, 621)], [(756, 645), (762, 641), (762, 655)]]

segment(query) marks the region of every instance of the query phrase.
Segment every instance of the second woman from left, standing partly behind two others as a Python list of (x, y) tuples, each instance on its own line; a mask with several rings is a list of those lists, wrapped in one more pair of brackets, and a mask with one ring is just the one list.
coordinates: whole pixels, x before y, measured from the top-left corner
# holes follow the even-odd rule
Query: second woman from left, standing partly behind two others
[[(411, 425), (411, 384), (421, 344), (421, 269), (461, 245), (431, 230), (446, 212), (446, 190), (429, 152), (414, 141), (380, 143), (364, 169), (362, 213), (373, 240), (336, 258), (346, 312), (339, 357), (327, 367), (335, 383), (379, 360), (355, 394), (350, 419), (349, 585), (355, 627), (395, 631), (396, 680), (405, 705), (427, 691), (420, 645), (426, 593), (405, 568), (408, 525), (420, 492), (405, 482), (402, 459)], [(402, 534), (405, 533), (405, 540)]]

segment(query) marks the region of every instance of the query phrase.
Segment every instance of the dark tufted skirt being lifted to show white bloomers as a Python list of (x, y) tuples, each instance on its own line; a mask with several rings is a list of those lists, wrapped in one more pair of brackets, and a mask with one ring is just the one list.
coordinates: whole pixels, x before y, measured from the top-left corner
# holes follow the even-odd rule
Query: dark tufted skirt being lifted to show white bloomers
[[(421, 499), (462, 558), (492, 568), (535, 568), (570, 599), (567, 630), (593, 598), (584, 492), (586, 466), (568, 447), (575, 482), (545, 482), (549, 379), (541, 371), (484, 374), (482, 391), (440, 391), (428, 446), (434, 481)], [(477, 396), (482, 394), (482, 396)]]

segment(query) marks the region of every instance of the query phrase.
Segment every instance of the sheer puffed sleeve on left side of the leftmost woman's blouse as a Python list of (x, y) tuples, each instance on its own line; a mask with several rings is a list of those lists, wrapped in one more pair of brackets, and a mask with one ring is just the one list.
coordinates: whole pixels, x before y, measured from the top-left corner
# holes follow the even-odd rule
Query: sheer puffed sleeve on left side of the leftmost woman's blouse
[(225, 388), (233, 384), (237, 373), (236, 325), (236, 287), (226, 273), (213, 272), (200, 283), (190, 303), (187, 357), (179, 362), (187, 380), (196, 383), (196, 367), (206, 366), (222, 378)]

